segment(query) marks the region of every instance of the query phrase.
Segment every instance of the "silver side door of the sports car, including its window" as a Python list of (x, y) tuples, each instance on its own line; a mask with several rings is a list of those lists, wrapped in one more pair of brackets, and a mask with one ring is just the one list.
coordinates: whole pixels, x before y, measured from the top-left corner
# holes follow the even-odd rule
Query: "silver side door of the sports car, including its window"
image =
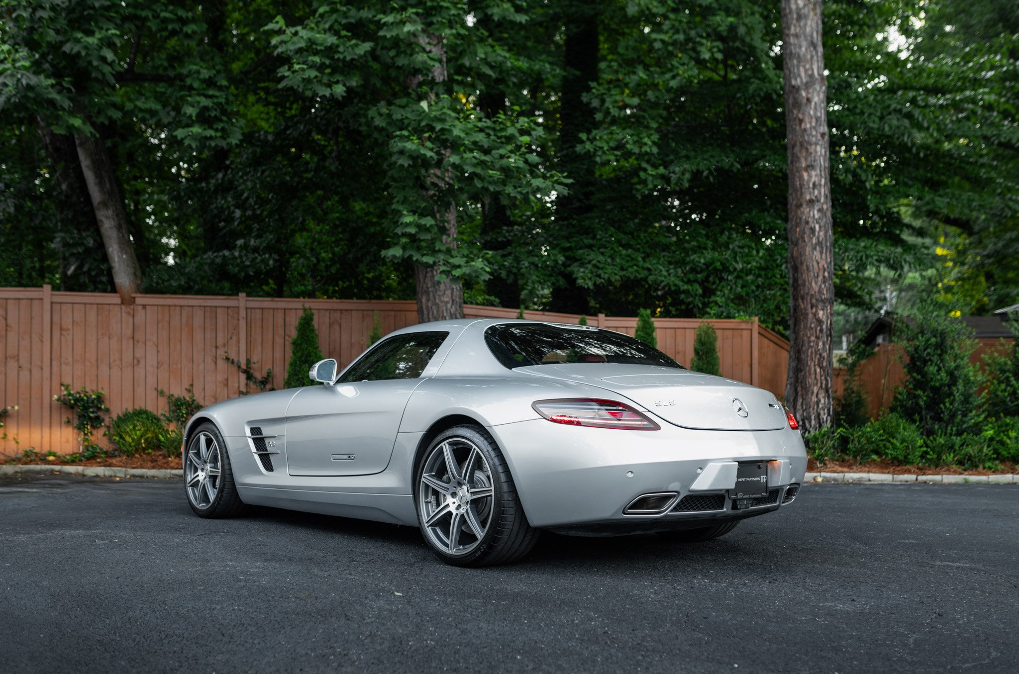
[(332, 385), (309, 386), (286, 411), (291, 475), (368, 475), (389, 464), (404, 408), (448, 332), (390, 337)]

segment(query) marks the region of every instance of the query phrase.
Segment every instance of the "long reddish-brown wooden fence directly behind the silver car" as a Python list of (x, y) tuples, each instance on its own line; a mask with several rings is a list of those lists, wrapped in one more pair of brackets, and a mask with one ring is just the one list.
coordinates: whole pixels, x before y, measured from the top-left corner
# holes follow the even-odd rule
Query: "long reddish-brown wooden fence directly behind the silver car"
[[(68, 410), (53, 401), (60, 385), (100, 389), (110, 415), (132, 407), (166, 408), (157, 393), (192, 387), (204, 404), (234, 397), (246, 386), (245, 362), (282, 388), (302, 307), (315, 313), (319, 347), (345, 366), (361, 353), (377, 314), (383, 333), (417, 323), (413, 301), (279, 299), (239, 296), (138, 295), (123, 305), (116, 294), (0, 288), (0, 407), (17, 405), (4, 418), (0, 452), (26, 447), (76, 450)], [(467, 305), (467, 318), (513, 319), (518, 310)], [(526, 312), (532, 320), (577, 323), (573, 314)], [(589, 317), (590, 325), (633, 335), (635, 318)], [(656, 319), (658, 348), (683, 363), (693, 356), (697, 319)], [(783, 396), (789, 342), (753, 321), (710, 321), (718, 332), (723, 376)], [(104, 442), (104, 441), (101, 441)]]

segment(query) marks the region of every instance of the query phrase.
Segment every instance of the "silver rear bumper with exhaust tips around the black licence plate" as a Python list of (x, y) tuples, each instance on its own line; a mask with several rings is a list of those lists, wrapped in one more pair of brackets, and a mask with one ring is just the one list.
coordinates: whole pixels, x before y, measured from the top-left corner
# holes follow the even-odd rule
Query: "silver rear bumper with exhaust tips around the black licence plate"
[[(689, 528), (770, 512), (793, 501), (788, 488), (802, 485), (807, 468), (803, 441), (790, 429), (623, 431), (532, 419), (488, 430), (506, 458), (528, 521), (562, 532)], [(768, 496), (734, 503), (729, 493), (737, 463), (750, 460), (768, 462)], [(646, 494), (674, 496), (662, 512), (626, 512)]]

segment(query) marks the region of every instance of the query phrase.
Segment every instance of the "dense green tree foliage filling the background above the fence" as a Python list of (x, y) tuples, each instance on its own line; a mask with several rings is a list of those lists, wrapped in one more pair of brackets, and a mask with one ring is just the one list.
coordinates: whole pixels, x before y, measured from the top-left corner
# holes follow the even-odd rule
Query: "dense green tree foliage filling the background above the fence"
[[(786, 332), (777, 0), (0, 0), (0, 284), (747, 318)], [(1019, 10), (824, 3), (837, 301), (1019, 295)], [(938, 284), (941, 284), (938, 286)], [(940, 290), (938, 290), (940, 288)]]

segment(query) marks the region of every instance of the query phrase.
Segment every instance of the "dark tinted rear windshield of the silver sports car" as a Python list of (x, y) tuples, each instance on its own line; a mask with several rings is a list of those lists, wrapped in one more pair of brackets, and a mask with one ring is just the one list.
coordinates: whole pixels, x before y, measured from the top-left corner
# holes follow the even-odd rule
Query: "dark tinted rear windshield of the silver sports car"
[(562, 362), (622, 362), (684, 369), (644, 342), (597, 328), (508, 323), (486, 330), (485, 342), (498, 361), (509, 369)]

